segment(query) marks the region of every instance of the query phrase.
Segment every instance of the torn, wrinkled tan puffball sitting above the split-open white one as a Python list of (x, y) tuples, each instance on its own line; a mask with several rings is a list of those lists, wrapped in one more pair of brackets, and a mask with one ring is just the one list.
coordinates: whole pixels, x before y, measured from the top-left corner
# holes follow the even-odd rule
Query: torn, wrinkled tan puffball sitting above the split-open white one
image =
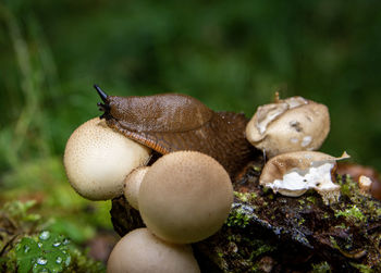
[(330, 132), (323, 104), (292, 97), (259, 107), (246, 126), (246, 138), (269, 158), (302, 150), (317, 150)]

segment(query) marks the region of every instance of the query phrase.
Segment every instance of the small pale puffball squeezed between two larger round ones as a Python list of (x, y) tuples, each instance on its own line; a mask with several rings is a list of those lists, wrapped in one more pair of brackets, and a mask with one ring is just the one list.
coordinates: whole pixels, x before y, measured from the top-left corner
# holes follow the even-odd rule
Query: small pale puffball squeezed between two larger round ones
[(140, 166), (132, 171), (124, 179), (124, 196), (128, 203), (139, 210), (138, 194), (142, 181), (146, 175), (149, 166)]

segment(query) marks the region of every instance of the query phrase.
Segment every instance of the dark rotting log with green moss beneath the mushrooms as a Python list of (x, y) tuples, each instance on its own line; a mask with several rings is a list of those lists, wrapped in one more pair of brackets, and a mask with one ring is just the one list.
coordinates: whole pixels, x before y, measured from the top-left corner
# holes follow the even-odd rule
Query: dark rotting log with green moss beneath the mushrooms
[[(337, 176), (341, 198), (328, 206), (314, 191), (263, 190), (259, 175), (260, 166), (246, 169), (221, 231), (193, 245), (202, 272), (381, 272), (381, 202), (349, 176)], [(144, 225), (124, 197), (111, 215), (121, 236)]]

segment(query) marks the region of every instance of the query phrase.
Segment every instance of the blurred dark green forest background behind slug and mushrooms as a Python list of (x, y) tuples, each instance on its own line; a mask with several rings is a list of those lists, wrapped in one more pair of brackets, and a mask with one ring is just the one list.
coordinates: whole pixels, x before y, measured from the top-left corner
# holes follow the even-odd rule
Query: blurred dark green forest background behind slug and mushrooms
[[(278, 90), (300, 95), (330, 109), (323, 151), (381, 170), (380, 67), (377, 0), (1, 0), (0, 202), (38, 197), (61, 220), (87, 211), (62, 154), (100, 114), (95, 83), (120, 96), (184, 92), (247, 116)], [(91, 206), (107, 215), (110, 204)], [(84, 219), (73, 236), (93, 225), (110, 221)]]

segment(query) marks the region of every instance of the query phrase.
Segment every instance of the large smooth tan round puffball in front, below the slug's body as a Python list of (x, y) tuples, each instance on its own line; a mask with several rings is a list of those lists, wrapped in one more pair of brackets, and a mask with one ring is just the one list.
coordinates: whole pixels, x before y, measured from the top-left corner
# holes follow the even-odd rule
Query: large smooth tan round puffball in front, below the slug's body
[(139, 211), (158, 237), (188, 244), (221, 228), (233, 202), (223, 166), (196, 151), (176, 151), (156, 161), (139, 189)]

